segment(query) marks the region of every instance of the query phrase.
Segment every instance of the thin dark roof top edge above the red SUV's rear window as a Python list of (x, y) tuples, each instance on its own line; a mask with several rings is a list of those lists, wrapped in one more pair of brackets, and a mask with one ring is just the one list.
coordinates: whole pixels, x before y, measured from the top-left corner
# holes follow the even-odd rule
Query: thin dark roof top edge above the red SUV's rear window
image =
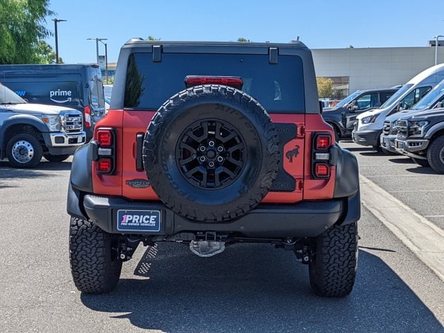
[(294, 47), (300, 49), (308, 49), (307, 46), (300, 42), (299, 40), (293, 40), (289, 43), (271, 43), (271, 42), (179, 42), (179, 41), (162, 41), (162, 40), (144, 40), (142, 38), (136, 37), (131, 38), (125, 43), (125, 46), (130, 45), (182, 45), (182, 46), (235, 46), (235, 47), (245, 47), (245, 46), (266, 46), (266, 47)]

